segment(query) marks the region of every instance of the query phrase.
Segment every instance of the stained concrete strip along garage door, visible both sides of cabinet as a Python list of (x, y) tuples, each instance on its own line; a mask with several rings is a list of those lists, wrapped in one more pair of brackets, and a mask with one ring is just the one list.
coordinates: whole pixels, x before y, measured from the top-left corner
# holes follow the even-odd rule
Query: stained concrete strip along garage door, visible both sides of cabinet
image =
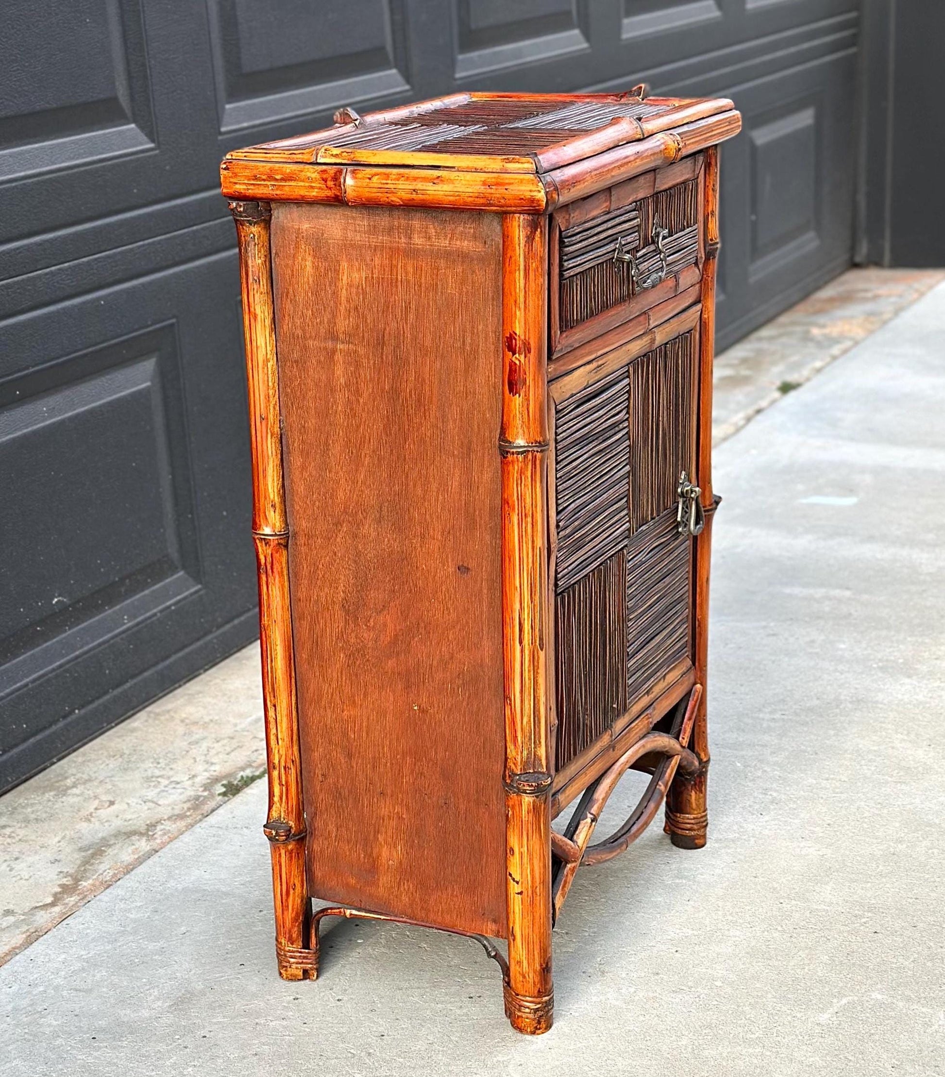
[[(851, 269), (723, 352), (715, 439), (943, 278)], [(259, 774), (262, 736), (253, 645), (0, 799), (0, 965)]]

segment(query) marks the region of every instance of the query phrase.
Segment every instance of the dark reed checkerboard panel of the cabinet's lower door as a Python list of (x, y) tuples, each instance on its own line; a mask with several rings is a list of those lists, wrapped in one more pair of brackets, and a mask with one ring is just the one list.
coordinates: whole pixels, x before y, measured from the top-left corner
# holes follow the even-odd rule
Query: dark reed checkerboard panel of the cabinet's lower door
[(691, 660), (697, 356), (693, 328), (555, 405), (558, 769)]

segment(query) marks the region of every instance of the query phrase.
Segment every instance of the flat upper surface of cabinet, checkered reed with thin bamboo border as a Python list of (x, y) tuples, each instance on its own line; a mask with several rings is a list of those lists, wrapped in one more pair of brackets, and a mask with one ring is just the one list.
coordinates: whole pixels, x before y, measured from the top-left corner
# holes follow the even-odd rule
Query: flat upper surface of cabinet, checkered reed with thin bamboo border
[(542, 172), (732, 109), (724, 99), (633, 94), (455, 94), (386, 112), (348, 110), (326, 130), (232, 158)]

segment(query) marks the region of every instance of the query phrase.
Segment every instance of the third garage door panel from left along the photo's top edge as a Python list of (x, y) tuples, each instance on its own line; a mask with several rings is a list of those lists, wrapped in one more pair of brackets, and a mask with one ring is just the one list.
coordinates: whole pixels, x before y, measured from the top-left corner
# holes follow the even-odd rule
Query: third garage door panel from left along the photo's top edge
[(576, 0), (456, 0), (456, 78), (589, 50)]

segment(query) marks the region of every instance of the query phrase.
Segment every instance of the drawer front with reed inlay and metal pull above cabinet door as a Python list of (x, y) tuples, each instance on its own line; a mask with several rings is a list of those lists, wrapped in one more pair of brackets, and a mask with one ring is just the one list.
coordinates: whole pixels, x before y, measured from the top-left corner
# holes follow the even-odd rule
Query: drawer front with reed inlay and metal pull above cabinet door
[(554, 214), (552, 356), (695, 284), (703, 263), (700, 155)]

